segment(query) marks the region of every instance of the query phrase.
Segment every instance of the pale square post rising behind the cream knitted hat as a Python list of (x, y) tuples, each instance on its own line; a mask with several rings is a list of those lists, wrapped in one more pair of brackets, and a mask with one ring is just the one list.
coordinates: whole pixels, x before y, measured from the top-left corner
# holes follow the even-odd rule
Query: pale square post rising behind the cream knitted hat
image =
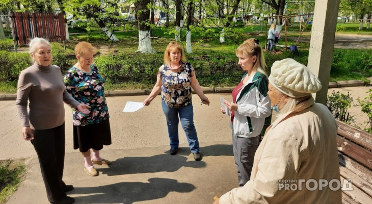
[(322, 82), (322, 89), (313, 96), (317, 103), (324, 105), (327, 101), (339, 4), (340, 0), (315, 2), (307, 66)]

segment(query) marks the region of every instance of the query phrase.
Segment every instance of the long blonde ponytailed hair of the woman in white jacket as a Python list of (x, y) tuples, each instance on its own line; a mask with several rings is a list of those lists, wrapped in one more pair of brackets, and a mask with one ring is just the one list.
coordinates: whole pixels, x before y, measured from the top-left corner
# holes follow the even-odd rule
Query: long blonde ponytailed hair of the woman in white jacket
[(235, 54), (236, 54), (236, 57), (256, 56), (257, 60), (253, 63), (252, 71), (258, 71), (262, 73), (263, 75), (265, 75), (266, 77), (268, 77), (268, 73), (266, 72), (266, 63), (263, 57), (262, 48), (256, 39), (249, 38), (248, 40), (244, 41), (243, 44), (237, 47)]

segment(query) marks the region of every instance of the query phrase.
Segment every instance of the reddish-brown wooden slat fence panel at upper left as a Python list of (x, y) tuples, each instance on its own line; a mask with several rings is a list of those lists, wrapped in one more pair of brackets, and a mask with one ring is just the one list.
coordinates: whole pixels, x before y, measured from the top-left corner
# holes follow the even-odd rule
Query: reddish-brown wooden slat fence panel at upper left
[(12, 12), (12, 30), (16, 45), (28, 44), (31, 38), (45, 38), (49, 42), (66, 40), (65, 18), (62, 13)]

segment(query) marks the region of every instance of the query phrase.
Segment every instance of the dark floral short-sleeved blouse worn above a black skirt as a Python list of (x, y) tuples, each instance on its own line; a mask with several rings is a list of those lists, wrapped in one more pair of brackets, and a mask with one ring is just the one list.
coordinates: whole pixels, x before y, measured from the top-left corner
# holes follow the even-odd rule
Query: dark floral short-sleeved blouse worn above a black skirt
[(103, 90), (104, 80), (94, 64), (90, 68), (91, 72), (86, 73), (73, 66), (63, 79), (67, 92), (80, 103), (91, 107), (87, 115), (72, 108), (73, 124), (76, 126), (97, 124), (110, 118)]

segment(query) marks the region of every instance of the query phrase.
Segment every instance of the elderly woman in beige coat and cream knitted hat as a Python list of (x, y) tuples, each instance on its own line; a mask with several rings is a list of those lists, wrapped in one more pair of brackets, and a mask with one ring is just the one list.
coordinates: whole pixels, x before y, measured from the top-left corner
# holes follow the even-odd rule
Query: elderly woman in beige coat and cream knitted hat
[(336, 121), (311, 96), (321, 88), (295, 60), (273, 64), (268, 95), (279, 117), (256, 151), (251, 180), (215, 203), (341, 203)]

